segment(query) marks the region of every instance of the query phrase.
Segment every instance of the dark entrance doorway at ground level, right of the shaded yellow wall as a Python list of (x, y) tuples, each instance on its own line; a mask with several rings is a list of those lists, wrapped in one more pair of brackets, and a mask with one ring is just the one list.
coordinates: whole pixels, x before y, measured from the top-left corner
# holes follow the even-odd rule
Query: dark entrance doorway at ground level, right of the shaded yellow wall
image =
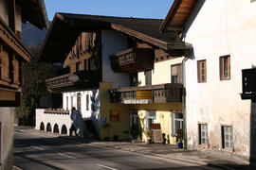
[(141, 137), (141, 128), (137, 115), (137, 110), (130, 110), (130, 139), (137, 140)]

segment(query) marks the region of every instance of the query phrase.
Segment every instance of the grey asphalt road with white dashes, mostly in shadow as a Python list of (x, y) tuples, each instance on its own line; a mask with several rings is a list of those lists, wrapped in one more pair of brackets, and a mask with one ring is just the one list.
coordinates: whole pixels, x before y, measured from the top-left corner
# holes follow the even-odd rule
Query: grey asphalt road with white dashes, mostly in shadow
[(16, 169), (26, 170), (213, 169), (184, 161), (161, 159), (92, 144), (77, 144), (21, 131), (14, 133), (13, 164)]

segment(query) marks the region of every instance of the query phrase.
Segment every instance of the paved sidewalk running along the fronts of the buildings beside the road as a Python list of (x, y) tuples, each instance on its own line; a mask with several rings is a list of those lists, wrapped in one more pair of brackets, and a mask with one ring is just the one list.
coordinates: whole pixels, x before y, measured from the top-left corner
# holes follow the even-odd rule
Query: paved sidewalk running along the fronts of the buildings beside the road
[(60, 140), (65, 140), (77, 144), (120, 149), (129, 152), (136, 152), (139, 154), (151, 155), (158, 158), (172, 159), (175, 161), (186, 161), (198, 165), (210, 165), (211, 167), (219, 167), (223, 169), (256, 169), (256, 166), (254, 164), (249, 165), (249, 161), (247, 161), (243, 157), (215, 150), (187, 151), (184, 149), (178, 149), (176, 145), (171, 144), (101, 142), (98, 140), (81, 139), (56, 133), (38, 131), (26, 127), (21, 129), (18, 128), (17, 131), (33, 133), (39, 136), (58, 138)]

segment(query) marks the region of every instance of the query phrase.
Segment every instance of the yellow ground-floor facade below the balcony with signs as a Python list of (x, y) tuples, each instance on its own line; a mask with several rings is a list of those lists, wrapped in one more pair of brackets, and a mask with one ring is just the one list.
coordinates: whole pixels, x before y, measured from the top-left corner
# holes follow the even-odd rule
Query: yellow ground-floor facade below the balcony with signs
[[(162, 133), (166, 134), (167, 142), (169, 144), (175, 144), (174, 138), (171, 136), (171, 110), (182, 110), (181, 103), (169, 103), (169, 104), (144, 104), (144, 105), (125, 105), (125, 104), (113, 104), (110, 102), (108, 90), (113, 88), (112, 83), (101, 82), (101, 139), (110, 137), (113, 140), (114, 135), (119, 135), (119, 139), (129, 139), (129, 124), (130, 124), (130, 110), (138, 110), (138, 118), (140, 127), (142, 129), (142, 142), (147, 142), (148, 137), (146, 135), (146, 110), (155, 110), (155, 123), (160, 123)], [(110, 121), (111, 110), (119, 110), (119, 121)], [(106, 118), (106, 123), (111, 124), (111, 127), (103, 127), (102, 121)]]

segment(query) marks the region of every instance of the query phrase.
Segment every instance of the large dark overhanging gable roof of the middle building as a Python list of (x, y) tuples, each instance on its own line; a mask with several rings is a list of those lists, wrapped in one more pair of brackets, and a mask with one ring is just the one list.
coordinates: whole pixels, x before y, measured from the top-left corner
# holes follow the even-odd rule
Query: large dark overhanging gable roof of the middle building
[(162, 22), (163, 20), (157, 19), (56, 13), (39, 58), (44, 61), (62, 62), (79, 33), (101, 29), (114, 29), (162, 49), (169, 49), (170, 46), (185, 48), (185, 43), (176, 41), (179, 37), (174, 32), (161, 34), (158, 31)]

